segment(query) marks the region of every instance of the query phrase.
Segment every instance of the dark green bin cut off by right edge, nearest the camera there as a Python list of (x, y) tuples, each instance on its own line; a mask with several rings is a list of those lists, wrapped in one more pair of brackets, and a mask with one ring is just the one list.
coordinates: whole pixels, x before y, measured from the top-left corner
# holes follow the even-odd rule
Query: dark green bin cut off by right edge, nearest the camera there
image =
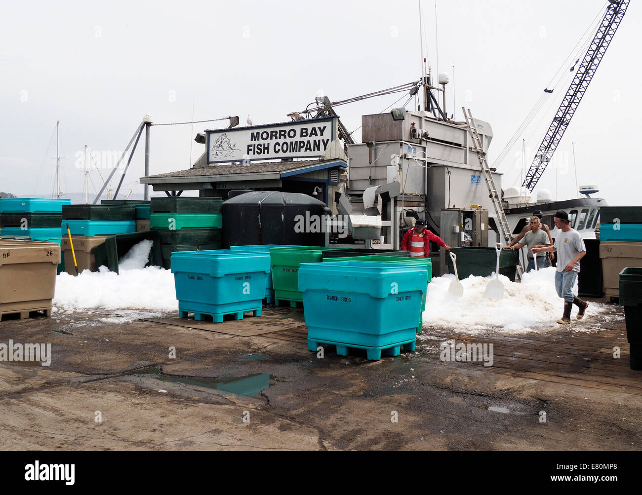
[(620, 272), (620, 305), (624, 306), (631, 369), (642, 370), (642, 267)]

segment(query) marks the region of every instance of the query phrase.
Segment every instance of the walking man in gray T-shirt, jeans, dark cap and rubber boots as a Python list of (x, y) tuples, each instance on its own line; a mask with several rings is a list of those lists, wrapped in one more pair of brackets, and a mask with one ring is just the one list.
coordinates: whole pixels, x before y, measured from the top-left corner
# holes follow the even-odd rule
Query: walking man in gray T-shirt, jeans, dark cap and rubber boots
[(568, 214), (564, 211), (555, 214), (555, 226), (559, 229), (555, 237), (555, 246), (533, 247), (533, 253), (551, 251), (557, 253), (557, 272), (555, 272), (555, 289), (560, 298), (564, 298), (564, 316), (557, 323), (571, 323), (571, 310), (577, 305), (577, 319), (582, 319), (589, 303), (573, 295), (573, 285), (580, 273), (580, 260), (586, 255), (584, 240), (577, 230), (569, 225)]

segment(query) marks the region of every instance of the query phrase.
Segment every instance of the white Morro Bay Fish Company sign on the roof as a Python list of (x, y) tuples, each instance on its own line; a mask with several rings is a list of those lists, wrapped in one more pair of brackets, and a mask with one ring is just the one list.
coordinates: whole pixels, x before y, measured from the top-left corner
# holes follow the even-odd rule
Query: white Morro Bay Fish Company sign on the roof
[(334, 139), (336, 117), (270, 126), (207, 131), (210, 164), (322, 156)]

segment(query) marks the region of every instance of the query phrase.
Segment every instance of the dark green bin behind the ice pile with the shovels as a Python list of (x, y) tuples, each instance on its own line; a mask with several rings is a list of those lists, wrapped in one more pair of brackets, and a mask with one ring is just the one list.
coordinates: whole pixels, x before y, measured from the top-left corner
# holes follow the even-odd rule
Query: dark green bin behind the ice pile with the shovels
[[(494, 247), (455, 247), (452, 249), (457, 256), (457, 274), (459, 280), (471, 275), (487, 277), (494, 273), (497, 265), (497, 251)], [(515, 281), (519, 251), (502, 249), (499, 255), (499, 274)], [(453, 260), (446, 253), (446, 263), (450, 273), (455, 273)]]

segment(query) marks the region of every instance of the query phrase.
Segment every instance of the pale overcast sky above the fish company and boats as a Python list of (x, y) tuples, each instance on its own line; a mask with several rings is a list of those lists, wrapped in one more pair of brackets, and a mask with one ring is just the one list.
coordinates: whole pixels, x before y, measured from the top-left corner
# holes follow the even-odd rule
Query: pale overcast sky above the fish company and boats
[[(433, 71), (447, 71), (447, 110), (465, 105), (490, 123), (492, 164), (594, 17), (602, 0), (423, 0)], [(641, 11), (632, 2), (540, 187), (559, 199), (597, 185), (611, 205), (640, 204)], [(61, 189), (81, 192), (76, 157), (123, 150), (146, 113), (155, 123), (247, 114), (287, 121), (318, 94), (337, 101), (421, 77), (417, 0), (80, 1), (4, 3), (0, 17), (0, 190), (54, 190), (60, 119)], [(436, 38), (438, 41), (438, 51)], [(583, 55), (583, 54), (582, 54)], [(564, 76), (571, 64), (563, 68)], [(454, 77), (453, 77), (453, 66)], [(568, 81), (568, 79), (566, 80)], [(526, 161), (566, 92), (562, 84), (524, 135)], [(338, 108), (349, 130), (397, 96)], [(410, 109), (412, 105), (409, 105)], [(461, 119), (461, 110), (457, 112)], [(187, 169), (204, 151), (198, 131), (219, 122), (152, 128), (151, 173)], [(360, 131), (354, 133), (360, 142)], [(53, 139), (52, 139), (53, 138)], [(499, 166), (519, 185), (521, 140)], [(126, 189), (143, 187), (141, 138)], [(513, 162), (517, 165), (510, 168)], [(510, 170), (509, 170), (510, 169)], [(105, 170), (100, 171), (105, 177)], [(98, 172), (91, 178), (96, 188)], [(116, 181), (114, 181), (116, 182)], [(90, 183), (90, 190), (94, 187)], [(537, 192), (537, 189), (535, 190)]]

